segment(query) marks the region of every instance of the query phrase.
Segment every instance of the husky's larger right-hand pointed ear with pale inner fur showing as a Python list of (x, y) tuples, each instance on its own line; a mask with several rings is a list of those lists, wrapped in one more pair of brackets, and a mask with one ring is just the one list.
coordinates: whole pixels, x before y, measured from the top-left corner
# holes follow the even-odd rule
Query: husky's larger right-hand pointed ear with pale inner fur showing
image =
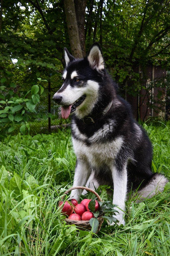
[(102, 50), (98, 43), (94, 43), (87, 55), (88, 61), (92, 69), (103, 70), (104, 58), (102, 56)]

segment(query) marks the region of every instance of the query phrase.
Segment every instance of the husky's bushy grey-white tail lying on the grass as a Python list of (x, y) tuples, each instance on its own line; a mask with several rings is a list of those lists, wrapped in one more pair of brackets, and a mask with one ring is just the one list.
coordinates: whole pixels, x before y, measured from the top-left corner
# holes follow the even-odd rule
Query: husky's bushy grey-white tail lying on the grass
[(141, 202), (146, 198), (152, 198), (152, 196), (162, 192), (167, 182), (168, 179), (164, 175), (154, 173), (148, 183), (138, 190), (137, 202)]

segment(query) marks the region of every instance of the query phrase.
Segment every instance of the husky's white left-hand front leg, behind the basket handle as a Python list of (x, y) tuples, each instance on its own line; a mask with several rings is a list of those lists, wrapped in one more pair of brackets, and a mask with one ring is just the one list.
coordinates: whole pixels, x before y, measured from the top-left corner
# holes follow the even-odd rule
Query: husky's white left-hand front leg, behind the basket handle
[[(73, 186), (84, 186), (90, 174), (91, 174), (91, 168), (88, 162), (83, 159), (77, 159)], [(83, 191), (82, 189), (72, 190), (70, 198), (74, 198), (78, 201), (80, 195), (82, 194), (82, 191)]]

